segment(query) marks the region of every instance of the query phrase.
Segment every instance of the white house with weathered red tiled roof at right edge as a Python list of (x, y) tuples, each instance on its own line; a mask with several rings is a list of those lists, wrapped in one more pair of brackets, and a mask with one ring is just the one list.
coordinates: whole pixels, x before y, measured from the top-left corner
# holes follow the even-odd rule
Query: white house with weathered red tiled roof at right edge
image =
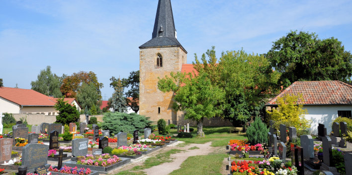
[(294, 82), (280, 94), (268, 101), (265, 106), (277, 107), (276, 99), (285, 94), (302, 94), (303, 108), (308, 114), (305, 118), (312, 120), (310, 131), (318, 134), (318, 124), (322, 123), (331, 132), (332, 122), (339, 116), (351, 118), (352, 86), (340, 81)]

